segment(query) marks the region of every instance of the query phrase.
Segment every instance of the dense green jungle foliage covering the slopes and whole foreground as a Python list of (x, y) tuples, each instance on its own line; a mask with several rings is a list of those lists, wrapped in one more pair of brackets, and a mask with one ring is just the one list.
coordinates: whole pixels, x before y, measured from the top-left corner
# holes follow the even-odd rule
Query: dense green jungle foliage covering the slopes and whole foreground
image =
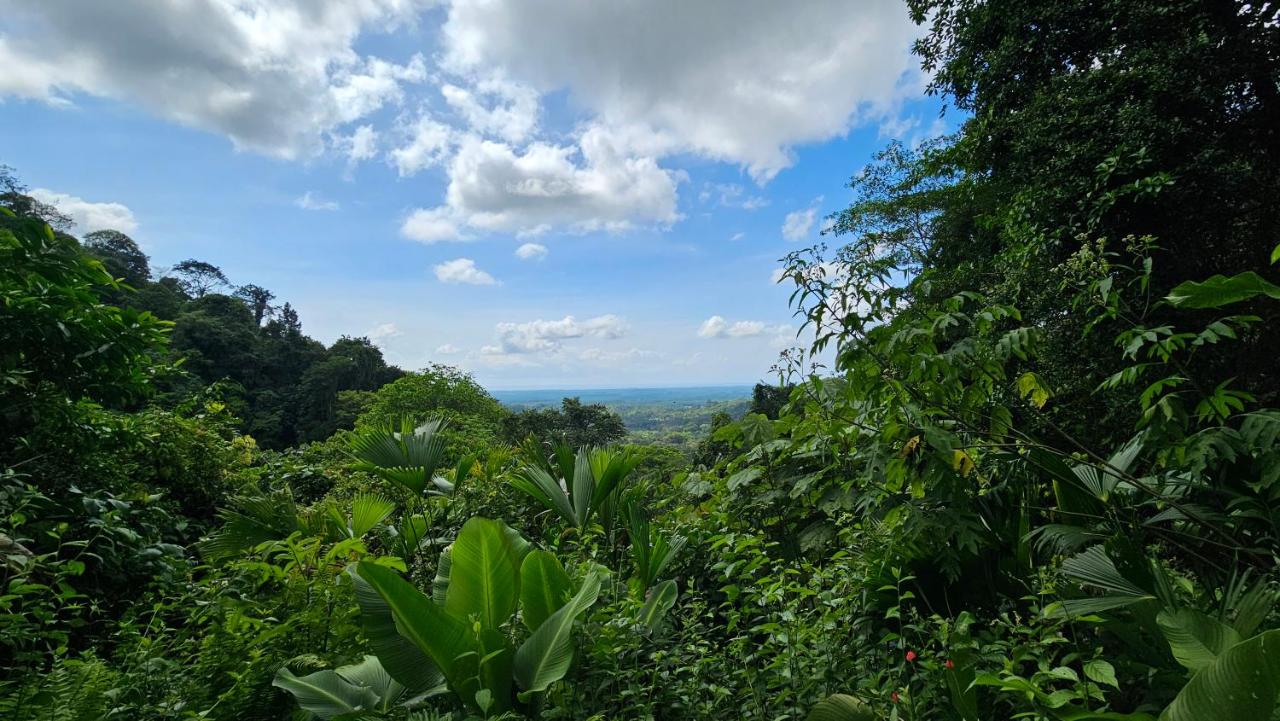
[(0, 716), (1280, 717), (1280, 10), (909, 6), (966, 120), (783, 260), (832, 362), (689, 457), (8, 179)]

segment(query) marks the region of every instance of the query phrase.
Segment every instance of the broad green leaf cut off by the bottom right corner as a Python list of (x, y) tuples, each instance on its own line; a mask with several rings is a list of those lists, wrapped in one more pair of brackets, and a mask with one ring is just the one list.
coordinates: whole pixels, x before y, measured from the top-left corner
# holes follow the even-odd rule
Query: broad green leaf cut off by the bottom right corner
[(1271, 718), (1280, 693), (1280, 630), (1245, 639), (1204, 666), (1160, 721)]

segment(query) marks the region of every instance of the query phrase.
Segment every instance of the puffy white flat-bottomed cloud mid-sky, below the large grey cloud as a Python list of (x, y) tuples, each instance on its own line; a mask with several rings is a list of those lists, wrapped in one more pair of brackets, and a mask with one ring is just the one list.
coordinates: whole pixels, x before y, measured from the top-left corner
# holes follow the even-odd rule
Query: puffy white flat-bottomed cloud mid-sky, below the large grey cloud
[(445, 204), (416, 210), (416, 227), (406, 224), (404, 234), (433, 242), (460, 238), (463, 229), (536, 234), (677, 220), (682, 175), (625, 151), (595, 129), (577, 145), (539, 141), (522, 150), (468, 136), (449, 161)]

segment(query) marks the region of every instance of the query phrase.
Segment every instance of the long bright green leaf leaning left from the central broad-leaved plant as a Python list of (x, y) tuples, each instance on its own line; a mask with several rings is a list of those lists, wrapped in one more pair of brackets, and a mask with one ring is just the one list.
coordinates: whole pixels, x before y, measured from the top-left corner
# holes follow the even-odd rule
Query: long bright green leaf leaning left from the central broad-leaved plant
[(449, 686), (458, 690), (467, 685), (470, 679), (460, 672), (458, 660), (477, 651), (470, 624), (447, 613), (390, 569), (361, 561), (356, 570), (390, 607), (399, 634), (431, 658)]

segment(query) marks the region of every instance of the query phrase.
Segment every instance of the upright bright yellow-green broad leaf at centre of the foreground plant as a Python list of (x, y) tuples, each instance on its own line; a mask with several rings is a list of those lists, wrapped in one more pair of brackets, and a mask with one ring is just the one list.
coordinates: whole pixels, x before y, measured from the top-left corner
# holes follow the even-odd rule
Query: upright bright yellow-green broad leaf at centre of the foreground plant
[(449, 590), (444, 608), (454, 619), (475, 617), (481, 628), (497, 630), (516, 612), (520, 593), (520, 557), (507, 535), (507, 524), (471, 517), (462, 525), (449, 552)]

